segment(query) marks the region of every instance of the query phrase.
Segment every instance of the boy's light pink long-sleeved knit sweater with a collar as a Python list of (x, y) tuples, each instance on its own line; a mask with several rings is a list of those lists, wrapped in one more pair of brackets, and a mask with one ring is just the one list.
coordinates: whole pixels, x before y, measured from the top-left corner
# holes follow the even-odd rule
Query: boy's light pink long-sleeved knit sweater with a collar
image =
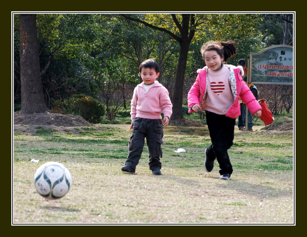
[(161, 119), (161, 113), (164, 117), (171, 117), (173, 105), (169, 99), (168, 90), (158, 81), (155, 81), (153, 87), (148, 92), (143, 87), (144, 82), (134, 88), (131, 100), (131, 119)]

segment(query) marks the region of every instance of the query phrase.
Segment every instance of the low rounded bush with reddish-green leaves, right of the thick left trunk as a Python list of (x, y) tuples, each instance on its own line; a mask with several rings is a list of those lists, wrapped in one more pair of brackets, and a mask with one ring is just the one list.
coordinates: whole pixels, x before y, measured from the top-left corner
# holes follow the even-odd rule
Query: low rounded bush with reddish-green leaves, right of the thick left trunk
[(73, 114), (83, 117), (85, 120), (97, 124), (105, 114), (103, 105), (91, 96), (75, 94), (68, 100), (55, 101), (54, 110), (64, 114)]

